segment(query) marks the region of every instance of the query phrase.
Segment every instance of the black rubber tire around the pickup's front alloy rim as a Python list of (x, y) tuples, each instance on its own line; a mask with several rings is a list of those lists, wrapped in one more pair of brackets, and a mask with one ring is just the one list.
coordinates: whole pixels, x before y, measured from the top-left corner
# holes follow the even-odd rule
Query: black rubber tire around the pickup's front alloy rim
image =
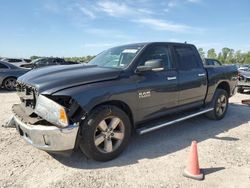
[[(114, 150), (111, 152), (105, 152), (104, 150), (102, 151), (100, 149), (102, 145), (105, 148), (106, 144), (105, 141), (107, 141), (107, 138), (105, 138), (105, 141), (103, 141), (103, 143), (99, 144), (98, 146), (95, 143), (97, 139), (96, 134), (99, 131), (98, 128), (100, 128), (100, 123), (103, 121), (106, 122), (107, 121), (106, 118), (107, 120), (108, 118), (118, 118), (119, 120), (121, 120), (120, 123), (124, 127), (123, 129), (124, 134), (122, 136), (122, 139), (119, 141), (119, 144), (116, 145), (117, 146), (116, 148), (113, 147)], [(111, 121), (109, 124), (106, 124), (108, 125), (108, 127), (110, 127), (109, 125), (111, 124)], [(115, 132), (115, 130), (113, 131)], [(99, 133), (98, 136), (100, 136), (102, 133), (103, 132)], [(107, 133), (107, 131), (105, 131), (105, 133)], [(79, 145), (82, 152), (87, 157), (96, 161), (109, 161), (111, 159), (116, 158), (126, 148), (126, 146), (129, 143), (130, 134), (131, 134), (131, 123), (127, 114), (115, 106), (103, 105), (95, 108), (87, 117), (87, 119), (84, 121), (81, 130), (82, 138), (80, 140)], [(105, 135), (105, 137), (107, 137), (107, 135)], [(109, 136), (108, 141), (110, 142), (110, 140), (112, 140), (112, 138), (110, 138)], [(117, 144), (118, 141), (112, 140), (111, 143)]]

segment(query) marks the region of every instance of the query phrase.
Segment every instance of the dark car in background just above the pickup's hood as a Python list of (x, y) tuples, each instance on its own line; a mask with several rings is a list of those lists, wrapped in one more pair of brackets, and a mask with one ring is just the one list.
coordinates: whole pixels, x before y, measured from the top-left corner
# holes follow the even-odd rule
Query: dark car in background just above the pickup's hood
[(62, 58), (57, 58), (57, 57), (45, 57), (45, 58), (39, 58), (31, 63), (23, 64), (21, 67), (25, 68), (41, 68), (45, 66), (52, 66), (52, 65), (71, 65), (71, 64), (78, 64), (77, 62), (72, 62), (72, 61), (65, 61)]

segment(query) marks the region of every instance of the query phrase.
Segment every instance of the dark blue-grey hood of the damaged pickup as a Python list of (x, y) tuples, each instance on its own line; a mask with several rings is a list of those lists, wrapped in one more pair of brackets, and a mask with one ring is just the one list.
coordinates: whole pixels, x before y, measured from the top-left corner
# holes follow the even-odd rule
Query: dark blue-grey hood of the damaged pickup
[(38, 93), (52, 94), (78, 85), (116, 79), (121, 70), (96, 65), (58, 65), (32, 70), (18, 82), (33, 86)]

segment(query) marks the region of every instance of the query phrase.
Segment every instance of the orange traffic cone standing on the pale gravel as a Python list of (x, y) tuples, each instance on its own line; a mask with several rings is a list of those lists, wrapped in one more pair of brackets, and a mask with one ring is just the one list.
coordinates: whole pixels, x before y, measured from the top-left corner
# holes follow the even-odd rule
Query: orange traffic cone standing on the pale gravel
[(195, 180), (203, 180), (204, 174), (200, 171), (197, 142), (192, 141), (191, 152), (188, 159), (188, 166), (183, 172), (183, 176), (192, 178)]

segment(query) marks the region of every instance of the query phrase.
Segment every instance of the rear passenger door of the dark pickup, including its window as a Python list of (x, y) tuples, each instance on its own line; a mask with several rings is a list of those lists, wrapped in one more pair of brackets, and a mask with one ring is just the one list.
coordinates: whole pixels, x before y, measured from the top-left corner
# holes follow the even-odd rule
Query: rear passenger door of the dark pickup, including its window
[(207, 75), (195, 47), (174, 46), (178, 64), (179, 105), (203, 104), (207, 92)]

